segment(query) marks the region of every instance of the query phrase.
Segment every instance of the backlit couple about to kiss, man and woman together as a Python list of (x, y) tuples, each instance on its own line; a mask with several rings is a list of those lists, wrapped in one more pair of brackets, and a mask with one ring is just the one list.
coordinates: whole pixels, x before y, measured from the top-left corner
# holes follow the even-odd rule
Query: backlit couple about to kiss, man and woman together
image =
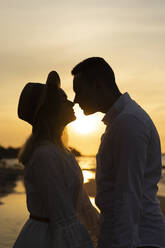
[(105, 113), (96, 168), (100, 213), (62, 142), (65, 126), (75, 120), (74, 103), (52, 71), (46, 84), (28, 83), (19, 99), (18, 116), (32, 125), (19, 155), (30, 216), (14, 248), (164, 248), (165, 219), (156, 196), (161, 149), (152, 120), (119, 91), (103, 58), (82, 61), (72, 75), (74, 103), (86, 115)]

